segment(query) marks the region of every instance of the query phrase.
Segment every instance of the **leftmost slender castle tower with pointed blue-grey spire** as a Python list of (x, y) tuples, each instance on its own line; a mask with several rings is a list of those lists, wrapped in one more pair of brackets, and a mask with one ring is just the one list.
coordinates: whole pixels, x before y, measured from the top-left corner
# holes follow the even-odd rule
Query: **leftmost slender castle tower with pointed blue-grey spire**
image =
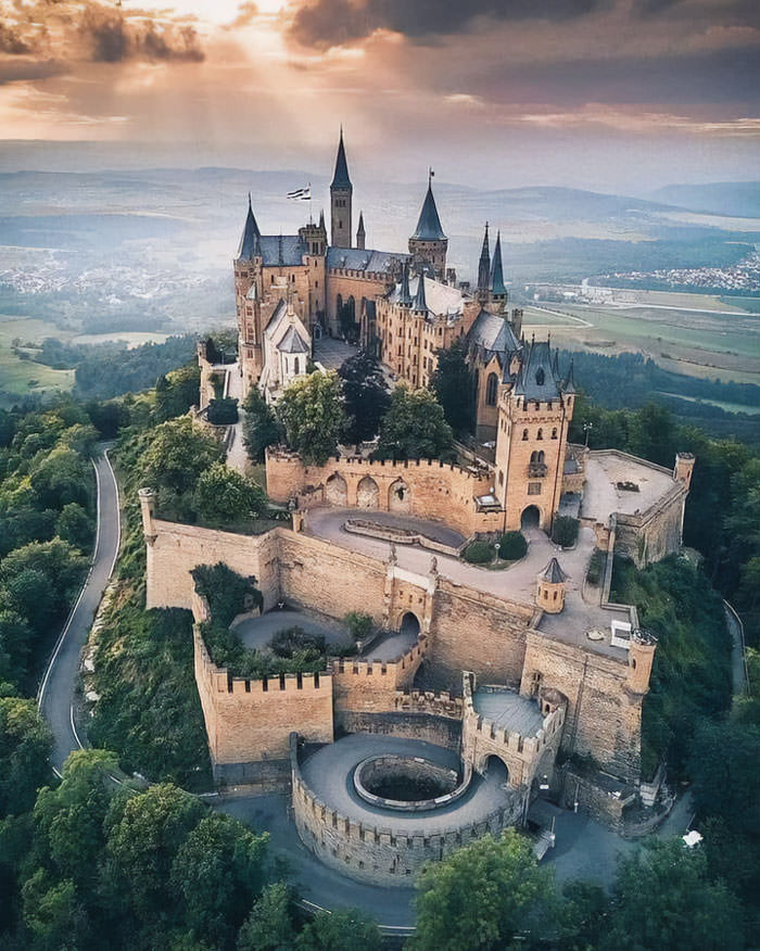
[(235, 307), (238, 318), (238, 353), (243, 394), (258, 382), (264, 368), (261, 325), (262, 232), (258, 230), (251, 194), (238, 253), (235, 257)]

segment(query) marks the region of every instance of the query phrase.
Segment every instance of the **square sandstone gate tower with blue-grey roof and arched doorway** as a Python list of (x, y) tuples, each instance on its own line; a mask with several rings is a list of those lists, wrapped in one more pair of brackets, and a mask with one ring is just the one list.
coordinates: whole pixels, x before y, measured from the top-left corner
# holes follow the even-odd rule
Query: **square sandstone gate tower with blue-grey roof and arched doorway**
[(562, 492), (574, 402), (572, 377), (560, 379), (548, 341), (525, 344), (517, 378), (501, 388), (498, 398), (494, 487), (505, 510), (505, 530), (550, 530)]

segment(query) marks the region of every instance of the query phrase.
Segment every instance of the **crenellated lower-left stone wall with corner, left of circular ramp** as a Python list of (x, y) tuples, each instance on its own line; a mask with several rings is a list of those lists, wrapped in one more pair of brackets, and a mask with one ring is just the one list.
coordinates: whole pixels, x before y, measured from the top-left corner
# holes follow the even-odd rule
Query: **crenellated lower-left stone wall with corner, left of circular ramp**
[(193, 630), (195, 683), (215, 773), (228, 764), (287, 764), (293, 728), (309, 743), (332, 743), (332, 676), (232, 677)]

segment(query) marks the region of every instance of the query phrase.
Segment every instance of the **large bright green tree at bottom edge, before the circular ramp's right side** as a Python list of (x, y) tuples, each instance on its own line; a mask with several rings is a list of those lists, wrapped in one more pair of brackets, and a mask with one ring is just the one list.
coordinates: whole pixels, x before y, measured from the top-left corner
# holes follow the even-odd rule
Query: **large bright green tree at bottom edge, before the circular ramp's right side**
[(484, 836), (429, 865), (417, 879), (414, 951), (506, 948), (541, 923), (553, 897), (550, 873), (514, 829)]

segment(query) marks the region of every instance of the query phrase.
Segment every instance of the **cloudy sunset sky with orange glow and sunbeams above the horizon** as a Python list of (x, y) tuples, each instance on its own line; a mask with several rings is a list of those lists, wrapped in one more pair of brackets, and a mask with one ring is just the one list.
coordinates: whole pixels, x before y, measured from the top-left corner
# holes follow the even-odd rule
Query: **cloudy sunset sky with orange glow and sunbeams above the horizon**
[(325, 173), (341, 123), (381, 180), (759, 179), (760, 0), (0, 0), (0, 160)]

